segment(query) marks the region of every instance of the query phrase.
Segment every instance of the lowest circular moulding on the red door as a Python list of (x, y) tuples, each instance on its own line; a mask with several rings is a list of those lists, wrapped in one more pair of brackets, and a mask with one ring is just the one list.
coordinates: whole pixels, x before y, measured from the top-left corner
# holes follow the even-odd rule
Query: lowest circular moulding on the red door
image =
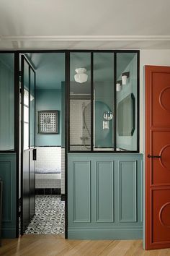
[(166, 202), (159, 211), (159, 221), (166, 228), (170, 228), (170, 202)]

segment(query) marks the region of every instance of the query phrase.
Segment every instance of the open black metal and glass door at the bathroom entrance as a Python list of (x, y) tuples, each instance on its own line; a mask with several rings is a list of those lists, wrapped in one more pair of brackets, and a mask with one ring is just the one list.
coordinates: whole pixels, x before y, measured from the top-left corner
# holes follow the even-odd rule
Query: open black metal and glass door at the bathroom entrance
[(35, 214), (35, 70), (21, 57), (21, 92), (22, 92), (22, 226), (21, 232), (30, 223)]

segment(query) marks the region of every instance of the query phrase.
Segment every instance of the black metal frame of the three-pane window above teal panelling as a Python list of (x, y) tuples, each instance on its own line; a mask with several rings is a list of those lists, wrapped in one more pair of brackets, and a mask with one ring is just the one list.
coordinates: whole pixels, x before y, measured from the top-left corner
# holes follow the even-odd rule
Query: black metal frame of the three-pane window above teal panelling
[[(67, 90), (67, 115), (68, 115), (68, 153), (139, 153), (139, 106), (140, 106), (140, 93), (139, 93), (139, 64), (140, 64), (140, 51), (138, 50), (72, 50), (68, 51), (68, 69), (70, 69), (70, 54), (71, 53), (89, 53), (91, 54), (91, 149), (90, 150), (71, 150), (70, 148), (70, 70), (67, 72), (68, 81), (66, 82)], [(114, 122), (114, 146), (113, 150), (94, 150), (94, 53), (111, 53), (114, 54), (114, 109), (115, 109), (115, 122)], [(137, 54), (137, 148), (136, 150), (121, 150), (117, 151), (117, 92), (116, 92), (116, 82), (117, 82), (117, 54), (120, 53), (134, 53)]]

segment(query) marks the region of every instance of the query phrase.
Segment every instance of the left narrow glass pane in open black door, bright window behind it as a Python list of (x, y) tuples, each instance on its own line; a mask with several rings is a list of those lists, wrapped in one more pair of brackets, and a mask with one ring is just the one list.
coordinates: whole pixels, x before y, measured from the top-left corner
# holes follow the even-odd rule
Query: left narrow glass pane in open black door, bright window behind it
[(29, 148), (29, 90), (30, 90), (30, 72), (27, 61), (24, 60), (24, 150)]

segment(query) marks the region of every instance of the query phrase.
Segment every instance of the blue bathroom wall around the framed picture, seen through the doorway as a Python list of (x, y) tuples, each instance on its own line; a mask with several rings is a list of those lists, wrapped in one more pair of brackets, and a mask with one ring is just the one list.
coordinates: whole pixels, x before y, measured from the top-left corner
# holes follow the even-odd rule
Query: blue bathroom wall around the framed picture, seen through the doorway
[[(40, 135), (38, 133), (38, 111), (58, 110), (58, 134)], [(36, 90), (36, 133), (35, 145), (61, 146), (61, 90)]]

